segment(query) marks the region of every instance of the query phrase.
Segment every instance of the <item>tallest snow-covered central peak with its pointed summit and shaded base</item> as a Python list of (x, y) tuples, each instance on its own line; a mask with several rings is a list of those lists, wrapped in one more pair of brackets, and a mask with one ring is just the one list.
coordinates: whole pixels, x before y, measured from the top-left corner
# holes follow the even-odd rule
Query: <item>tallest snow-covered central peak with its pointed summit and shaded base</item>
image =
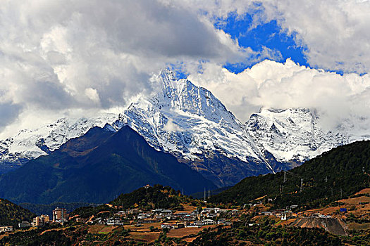
[(218, 186), (272, 171), (245, 126), (210, 91), (168, 70), (153, 84), (158, 90), (132, 103), (113, 127), (130, 126)]

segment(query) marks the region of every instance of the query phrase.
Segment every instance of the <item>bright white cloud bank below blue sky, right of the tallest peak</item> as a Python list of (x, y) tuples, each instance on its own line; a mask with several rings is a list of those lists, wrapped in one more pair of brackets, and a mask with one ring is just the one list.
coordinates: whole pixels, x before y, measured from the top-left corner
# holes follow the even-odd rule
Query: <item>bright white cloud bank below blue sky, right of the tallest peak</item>
[(259, 108), (311, 108), (336, 127), (350, 117), (370, 119), (370, 76), (338, 75), (298, 65), (292, 60), (264, 60), (235, 75), (215, 65), (189, 79), (214, 93), (243, 122)]

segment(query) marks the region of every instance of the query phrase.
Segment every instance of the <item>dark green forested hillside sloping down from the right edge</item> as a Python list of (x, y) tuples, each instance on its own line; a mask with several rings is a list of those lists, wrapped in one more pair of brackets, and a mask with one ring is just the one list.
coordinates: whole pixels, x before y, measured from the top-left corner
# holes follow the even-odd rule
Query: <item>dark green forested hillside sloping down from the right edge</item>
[(248, 177), (210, 200), (241, 204), (267, 195), (280, 206), (316, 207), (370, 187), (369, 173), (370, 141), (361, 141), (334, 148), (286, 174)]

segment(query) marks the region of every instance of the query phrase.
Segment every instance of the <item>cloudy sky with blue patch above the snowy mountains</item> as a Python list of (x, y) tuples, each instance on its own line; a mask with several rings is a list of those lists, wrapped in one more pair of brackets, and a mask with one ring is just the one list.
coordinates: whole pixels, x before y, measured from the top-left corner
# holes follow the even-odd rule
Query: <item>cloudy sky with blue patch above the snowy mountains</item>
[[(240, 119), (261, 106), (323, 108), (332, 102), (342, 114), (340, 103), (352, 103), (354, 94), (360, 105), (370, 105), (364, 96), (370, 91), (370, 1), (74, 3), (12, 0), (0, 6), (0, 134), (9, 124), (32, 122), (27, 116), (125, 108), (151, 93), (150, 78), (164, 67), (212, 91)], [(252, 20), (260, 24), (251, 28)], [(288, 58), (294, 63), (285, 63)], [(259, 68), (258, 81), (240, 73), (252, 66)], [(302, 101), (304, 83), (322, 98)], [(358, 108), (347, 105), (351, 113)]]

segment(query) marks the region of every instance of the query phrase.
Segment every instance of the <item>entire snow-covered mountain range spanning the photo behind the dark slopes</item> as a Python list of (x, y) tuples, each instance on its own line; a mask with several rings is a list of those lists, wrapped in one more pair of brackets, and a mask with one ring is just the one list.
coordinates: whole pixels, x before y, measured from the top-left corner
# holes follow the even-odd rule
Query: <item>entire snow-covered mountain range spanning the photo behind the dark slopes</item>
[[(291, 169), (338, 145), (369, 138), (351, 134), (344, 124), (326, 129), (320, 115), (306, 108), (262, 108), (243, 124), (210, 91), (187, 79), (176, 80), (170, 70), (162, 70), (151, 82), (154, 92), (119, 116), (80, 119), (86, 124), (61, 124), (62, 130), (47, 127), (42, 133), (26, 131), (1, 141), (1, 164), (47, 155), (66, 140), (108, 122), (115, 131), (128, 125), (156, 150), (171, 153), (217, 186), (230, 186), (245, 176)], [(21, 151), (15, 143), (23, 146)]]

